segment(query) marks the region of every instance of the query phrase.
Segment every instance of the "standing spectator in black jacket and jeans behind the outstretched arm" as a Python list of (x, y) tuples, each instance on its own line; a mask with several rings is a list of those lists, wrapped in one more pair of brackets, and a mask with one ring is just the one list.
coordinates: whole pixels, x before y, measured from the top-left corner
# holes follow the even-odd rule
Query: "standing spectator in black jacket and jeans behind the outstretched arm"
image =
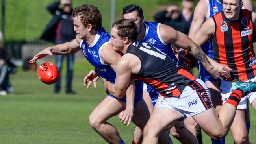
[[(61, 9), (58, 7), (61, 4)], [(60, 0), (60, 2), (54, 2), (47, 7), (47, 10), (52, 13), (53, 18), (46, 27), (41, 39), (46, 41), (54, 42), (55, 44), (62, 44), (70, 42), (75, 38), (76, 33), (73, 30), (73, 17), (72, 17), (72, 1), (71, 0)], [(56, 55), (56, 66), (61, 73), (61, 67), (63, 63), (64, 55)], [(73, 63), (74, 54), (67, 55), (67, 80), (66, 80), (66, 93), (76, 94), (72, 87), (73, 77)], [(54, 85), (54, 93), (59, 93), (61, 86), (61, 77)]]

